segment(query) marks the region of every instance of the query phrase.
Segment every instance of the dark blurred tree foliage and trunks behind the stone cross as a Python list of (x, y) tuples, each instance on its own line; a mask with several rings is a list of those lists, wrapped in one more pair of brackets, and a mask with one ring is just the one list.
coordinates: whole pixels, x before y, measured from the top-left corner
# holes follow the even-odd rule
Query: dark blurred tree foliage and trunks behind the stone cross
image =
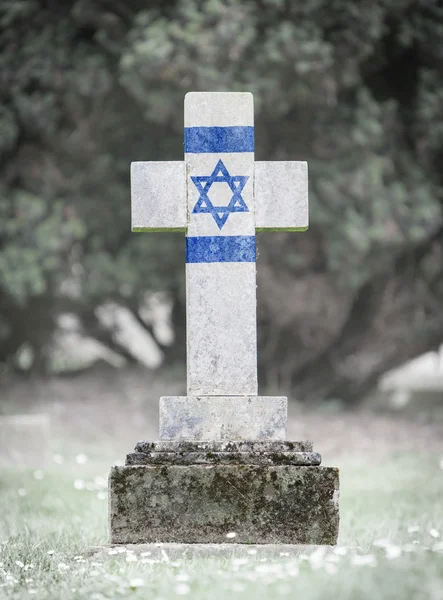
[(183, 240), (131, 234), (129, 162), (182, 155), (189, 90), (255, 97), (257, 159), (308, 160), (311, 227), (258, 240), (262, 383), (358, 400), (443, 340), (443, 8), (432, 0), (0, 5), (0, 360), (60, 312), (175, 301)]

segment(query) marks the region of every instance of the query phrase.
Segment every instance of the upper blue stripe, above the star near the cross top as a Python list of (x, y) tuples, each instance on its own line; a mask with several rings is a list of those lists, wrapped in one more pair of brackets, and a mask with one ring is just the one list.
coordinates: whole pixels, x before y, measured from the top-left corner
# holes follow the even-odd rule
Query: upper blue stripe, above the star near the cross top
[(254, 128), (185, 127), (185, 152), (254, 152)]

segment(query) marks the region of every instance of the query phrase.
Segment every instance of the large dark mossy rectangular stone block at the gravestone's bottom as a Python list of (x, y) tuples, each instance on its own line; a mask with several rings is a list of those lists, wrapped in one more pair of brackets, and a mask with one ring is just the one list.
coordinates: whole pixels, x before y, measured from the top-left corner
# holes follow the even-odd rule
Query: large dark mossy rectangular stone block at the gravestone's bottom
[(338, 469), (126, 466), (110, 480), (111, 542), (335, 544)]

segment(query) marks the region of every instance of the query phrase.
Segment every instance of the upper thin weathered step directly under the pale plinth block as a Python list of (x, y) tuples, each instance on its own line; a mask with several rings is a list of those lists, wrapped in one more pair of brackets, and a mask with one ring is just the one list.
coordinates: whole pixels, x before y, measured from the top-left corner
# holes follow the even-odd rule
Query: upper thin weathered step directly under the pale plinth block
[(137, 442), (135, 452), (312, 452), (312, 442), (268, 441), (173, 441)]

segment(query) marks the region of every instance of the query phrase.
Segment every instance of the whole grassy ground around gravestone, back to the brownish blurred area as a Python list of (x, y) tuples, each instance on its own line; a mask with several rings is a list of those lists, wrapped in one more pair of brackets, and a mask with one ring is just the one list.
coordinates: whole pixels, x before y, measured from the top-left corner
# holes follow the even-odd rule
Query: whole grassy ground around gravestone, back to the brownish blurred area
[(158, 396), (180, 384), (110, 372), (4, 390), (0, 410), (44, 410), (53, 429), (48, 464), (0, 470), (0, 598), (443, 598), (440, 408), (400, 416), (292, 404), (289, 437), (313, 439), (324, 464), (340, 468), (339, 547), (177, 559), (91, 549), (107, 542), (110, 465), (155, 439)]

